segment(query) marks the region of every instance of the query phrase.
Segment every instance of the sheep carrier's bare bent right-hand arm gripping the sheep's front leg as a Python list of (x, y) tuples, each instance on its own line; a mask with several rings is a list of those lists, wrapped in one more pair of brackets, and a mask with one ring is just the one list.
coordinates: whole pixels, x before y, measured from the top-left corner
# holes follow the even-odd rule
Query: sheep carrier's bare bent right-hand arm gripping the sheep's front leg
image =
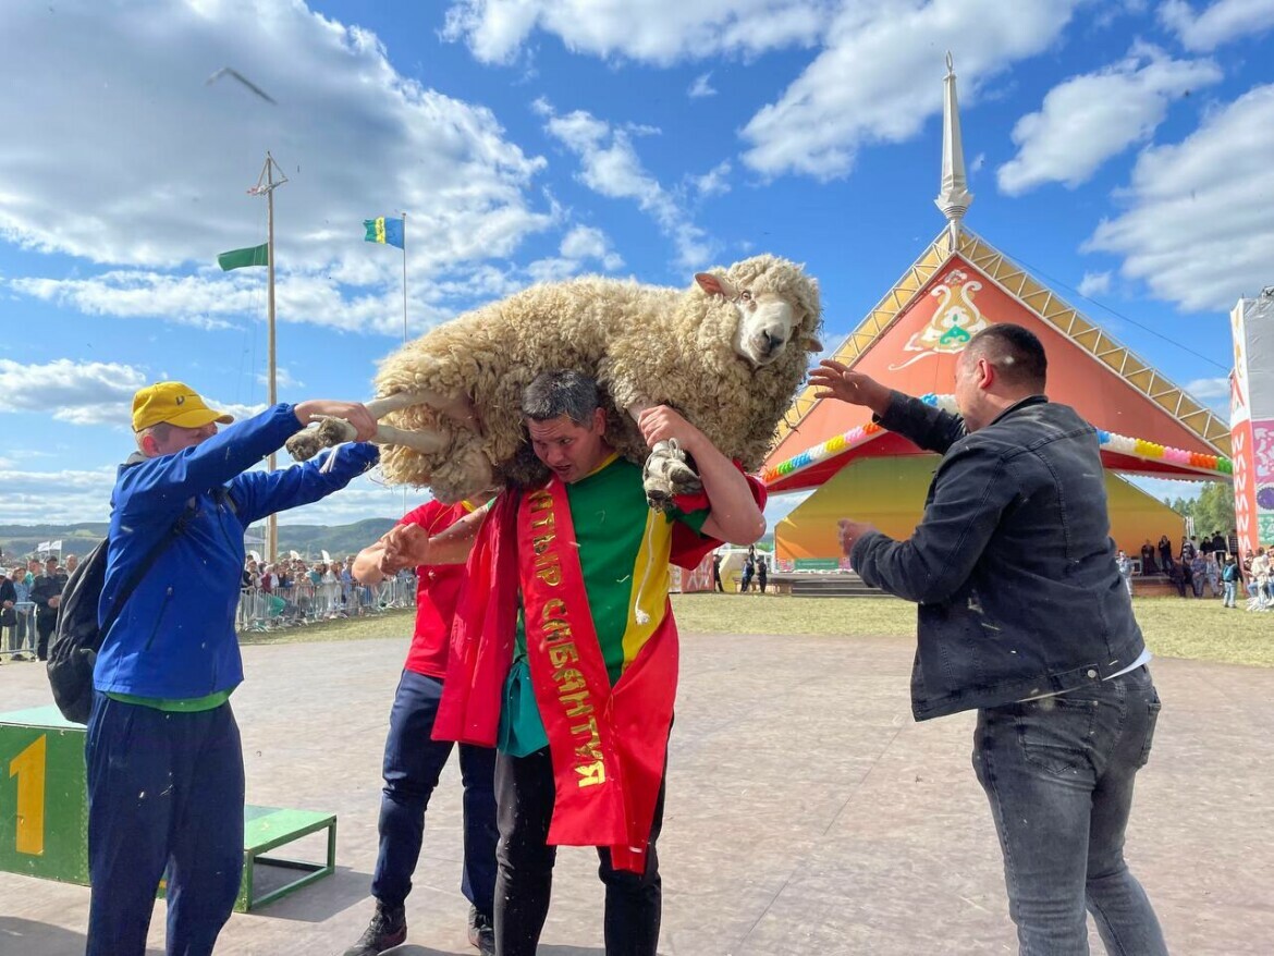
[(766, 533), (766, 518), (752, 497), (748, 479), (703, 432), (668, 405), (647, 408), (638, 416), (637, 427), (647, 445), (676, 438), (694, 458), (711, 507), (711, 514), (703, 521), (702, 534), (731, 544), (761, 540)]

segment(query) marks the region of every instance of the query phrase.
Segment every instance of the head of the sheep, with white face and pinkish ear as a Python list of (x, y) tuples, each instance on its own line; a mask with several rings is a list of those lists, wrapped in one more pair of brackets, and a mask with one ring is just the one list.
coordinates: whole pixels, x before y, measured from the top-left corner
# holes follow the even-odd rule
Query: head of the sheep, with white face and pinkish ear
[(721, 296), (738, 312), (734, 351), (754, 367), (771, 365), (790, 348), (822, 351), (818, 283), (786, 259), (763, 255), (731, 265), (725, 274), (698, 273), (699, 288)]

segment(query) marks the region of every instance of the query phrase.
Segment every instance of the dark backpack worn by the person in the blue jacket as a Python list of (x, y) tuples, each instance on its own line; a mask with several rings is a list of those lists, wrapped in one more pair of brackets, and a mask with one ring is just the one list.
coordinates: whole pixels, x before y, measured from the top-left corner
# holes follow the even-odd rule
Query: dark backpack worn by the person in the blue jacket
[[(227, 501), (231, 501), (228, 496)], [(106, 586), (110, 537), (103, 538), (88, 553), (66, 581), (57, 608), (57, 627), (48, 645), (48, 683), (54, 688), (54, 702), (68, 720), (76, 724), (88, 723), (89, 711), (93, 709), (93, 665), (97, 663), (97, 653), (102, 649), (102, 639), (155, 560), (186, 532), (195, 511), (195, 498), (191, 498), (186, 502), (181, 518), (168, 529), (168, 534), (155, 544), (134, 570), (132, 577), (120, 588), (115, 605), (101, 626), (97, 621), (97, 608), (102, 600), (102, 588)]]

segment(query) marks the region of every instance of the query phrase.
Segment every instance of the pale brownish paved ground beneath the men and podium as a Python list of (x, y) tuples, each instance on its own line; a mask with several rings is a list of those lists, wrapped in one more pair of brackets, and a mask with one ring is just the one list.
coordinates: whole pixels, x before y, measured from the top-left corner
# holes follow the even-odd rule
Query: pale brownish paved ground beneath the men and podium
[[(968, 715), (915, 724), (906, 641), (683, 639), (664, 860), (666, 956), (1012, 953)], [(234, 695), (248, 800), (339, 815), (335, 877), (234, 915), (218, 953), (340, 953), (371, 914), (378, 767), (405, 641), (245, 649)], [(1127, 855), (1175, 953), (1268, 953), (1274, 939), (1274, 670), (1161, 660), (1164, 710)], [(0, 667), (0, 710), (47, 702)], [(401, 956), (464, 941), (460, 788), (429, 809)], [(596, 956), (601, 887), (566, 849), (541, 953)], [(83, 952), (88, 890), (0, 873), (0, 952)], [(152, 931), (162, 952), (163, 904)], [(1101, 945), (1093, 937), (1094, 952)]]

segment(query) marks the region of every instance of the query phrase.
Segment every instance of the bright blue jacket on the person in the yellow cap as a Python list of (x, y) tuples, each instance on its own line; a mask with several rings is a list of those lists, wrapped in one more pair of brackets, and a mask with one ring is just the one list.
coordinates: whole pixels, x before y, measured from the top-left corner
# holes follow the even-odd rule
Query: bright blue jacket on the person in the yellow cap
[[(359, 444), (340, 447), (326, 474), (318, 470), (322, 459), (279, 472), (248, 470), (299, 428), (292, 405), (275, 405), (195, 447), (161, 458), (135, 455), (120, 467), (111, 496), (99, 621), (190, 498), (195, 498), (196, 514), (141, 579), (103, 637), (93, 672), (97, 690), (177, 700), (242, 682), (234, 609), (245, 529), (269, 514), (344, 488), (378, 459), (373, 445)], [(223, 488), (233, 509), (224, 502)]]

